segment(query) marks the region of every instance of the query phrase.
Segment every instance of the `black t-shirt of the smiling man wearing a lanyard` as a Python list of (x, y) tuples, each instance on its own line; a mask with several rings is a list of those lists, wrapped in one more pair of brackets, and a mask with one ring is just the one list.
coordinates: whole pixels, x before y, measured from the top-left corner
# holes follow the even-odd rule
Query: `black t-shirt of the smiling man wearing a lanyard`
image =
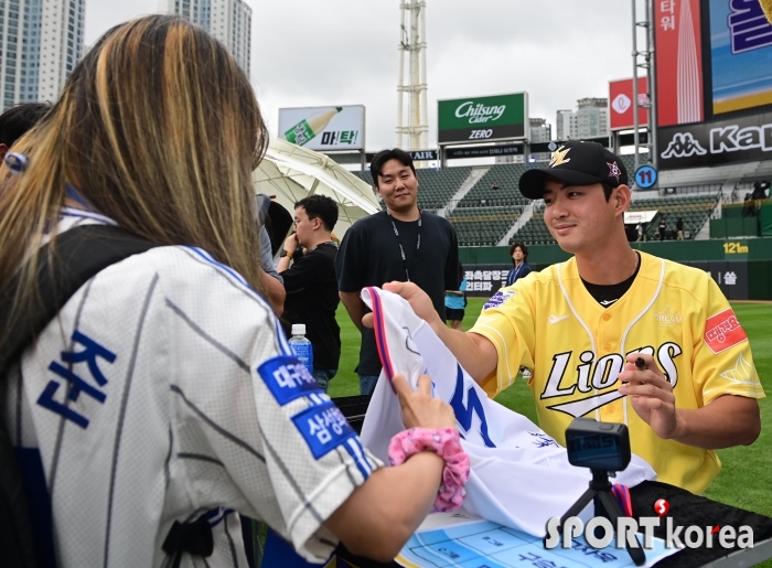
[[(392, 219), (399, 232), (394, 234)], [(459, 287), (459, 243), (450, 222), (431, 213), (421, 213), (421, 245), (416, 253), (418, 221), (403, 222), (385, 211), (357, 221), (343, 236), (335, 258), (337, 287), (342, 292), (360, 292), (366, 286), (383, 286), (392, 280), (418, 285), (431, 298), (435, 310), (444, 319), (444, 291)], [(399, 251), (405, 250), (405, 262)], [(362, 375), (378, 375), (380, 360), (372, 329), (363, 328), (360, 365)]]

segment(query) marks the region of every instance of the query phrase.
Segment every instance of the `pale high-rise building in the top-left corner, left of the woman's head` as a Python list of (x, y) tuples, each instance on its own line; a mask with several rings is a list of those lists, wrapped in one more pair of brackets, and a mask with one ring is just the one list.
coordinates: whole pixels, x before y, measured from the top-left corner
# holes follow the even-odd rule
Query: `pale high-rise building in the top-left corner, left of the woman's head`
[(83, 56), (86, 0), (0, 0), (2, 109), (55, 101)]

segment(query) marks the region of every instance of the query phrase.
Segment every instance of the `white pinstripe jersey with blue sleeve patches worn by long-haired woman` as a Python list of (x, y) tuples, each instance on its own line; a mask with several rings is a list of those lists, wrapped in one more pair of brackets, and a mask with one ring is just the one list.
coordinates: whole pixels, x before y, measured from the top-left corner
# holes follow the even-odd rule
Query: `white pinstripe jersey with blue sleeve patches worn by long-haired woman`
[[(108, 221), (65, 210), (60, 231)], [(172, 523), (215, 510), (206, 565), (246, 566), (238, 516), (218, 507), (323, 561), (336, 539), (322, 522), (379, 462), (290, 354), (268, 304), (196, 248), (151, 249), (82, 287), (0, 382), (56, 565), (161, 566)]]

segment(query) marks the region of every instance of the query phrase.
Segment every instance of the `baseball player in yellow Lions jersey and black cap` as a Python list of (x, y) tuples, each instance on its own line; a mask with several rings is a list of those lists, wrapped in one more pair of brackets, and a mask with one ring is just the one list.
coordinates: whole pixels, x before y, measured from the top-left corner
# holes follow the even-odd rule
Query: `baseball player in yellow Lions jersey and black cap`
[(410, 283), (385, 288), (410, 301), (489, 395), (532, 369), (550, 436), (565, 443), (579, 416), (625, 422), (632, 451), (661, 481), (699, 493), (720, 470), (712, 450), (758, 438), (764, 393), (710, 276), (630, 247), (626, 183), (622, 160), (593, 142), (567, 142), (549, 168), (524, 173), (521, 192), (544, 199), (549, 232), (575, 256), (501, 289), (468, 333), (446, 328)]

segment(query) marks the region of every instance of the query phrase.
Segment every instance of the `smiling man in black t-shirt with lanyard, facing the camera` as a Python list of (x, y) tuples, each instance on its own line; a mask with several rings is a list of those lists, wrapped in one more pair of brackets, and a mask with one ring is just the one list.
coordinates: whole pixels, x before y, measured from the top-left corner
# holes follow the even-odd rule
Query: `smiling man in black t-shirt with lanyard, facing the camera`
[(341, 301), (362, 332), (356, 372), (363, 395), (373, 393), (380, 360), (373, 330), (362, 326), (367, 309), (360, 290), (409, 280), (429, 294), (444, 318), (444, 291), (459, 286), (455, 229), (446, 218), (418, 208), (418, 179), (410, 156), (398, 148), (378, 152), (371, 173), (386, 211), (357, 221), (344, 235), (335, 258)]

